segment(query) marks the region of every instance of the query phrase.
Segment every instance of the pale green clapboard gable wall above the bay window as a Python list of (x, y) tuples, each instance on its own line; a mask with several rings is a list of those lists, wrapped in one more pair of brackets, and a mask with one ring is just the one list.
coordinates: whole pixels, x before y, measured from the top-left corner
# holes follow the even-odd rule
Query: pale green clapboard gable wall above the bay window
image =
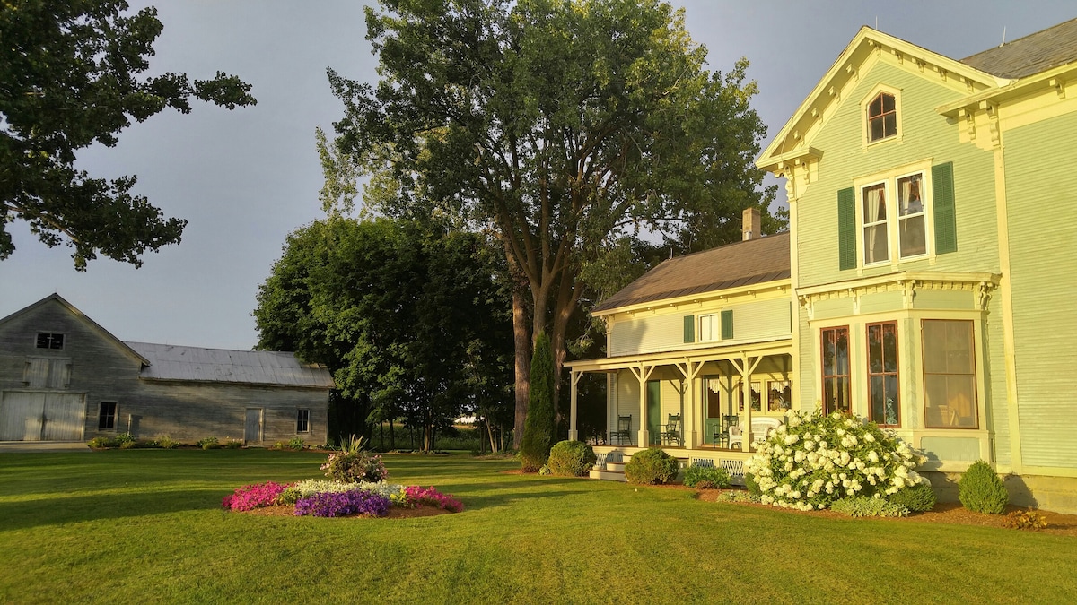
[[(998, 270), (995, 244), (993, 156), (976, 145), (961, 143), (947, 118), (935, 108), (961, 98), (952, 87), (895, 59), (869, 59), (859, 82), (847, 93), (840, 107), (811, 141), (823, 150), (819, 177), (796, 201), (797, 287), (872, 277), (894, 270), (993, 271)], [(880, 83), (900, 89), (901, 138), (865, 149), (861, 101)], [(901, 262), (862, 270), (841, 270), (838, 251), (838, 192), (856, 179), (883, 173), (896, 167), (929, 160), (953, 161), (957, 251), (934, 261)], [(931, 178), (931, 171), (927, 171)], [(859, 203), (857, 194), (856, 202)], [(928, 238), (929, 240), (932, 238)], [(863, 262), (863, 231), (857, 229), (857, 259)]]

